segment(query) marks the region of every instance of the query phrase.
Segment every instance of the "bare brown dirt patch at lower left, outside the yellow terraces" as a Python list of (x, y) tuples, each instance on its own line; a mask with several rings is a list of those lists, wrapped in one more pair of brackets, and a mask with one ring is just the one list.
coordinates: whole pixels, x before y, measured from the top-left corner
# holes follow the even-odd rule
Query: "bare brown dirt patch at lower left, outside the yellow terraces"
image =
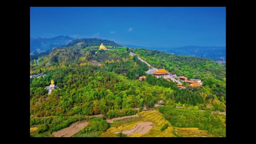
[(82, 130), (82, 128), (84, 128), (87, 125), (87, 121), (76, 122), (74, 124), (71, 124), (69, 127), (63, 128), (62, 130), (59, 130), (57, 132), (53, 132), (52, 134), (54, 135), (54, 137), (71, 137), (77, 132), (79, 132), (79, 130)]

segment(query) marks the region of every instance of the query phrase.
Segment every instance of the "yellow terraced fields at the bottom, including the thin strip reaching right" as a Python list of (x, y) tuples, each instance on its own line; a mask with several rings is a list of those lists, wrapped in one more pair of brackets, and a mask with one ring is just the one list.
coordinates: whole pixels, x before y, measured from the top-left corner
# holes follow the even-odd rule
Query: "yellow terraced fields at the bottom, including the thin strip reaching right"
[[(162, 132), (160, 129), (164, 124), (168, 124), (168, 128)], [(126, 118), (123, 121), (114, 122), (100, 136), (116, 137), (120, 132), (127, 137), (214, 137), (206, 130), (174, 127), (163, 114), (156, 110), (140, 112), (136, 119)]]

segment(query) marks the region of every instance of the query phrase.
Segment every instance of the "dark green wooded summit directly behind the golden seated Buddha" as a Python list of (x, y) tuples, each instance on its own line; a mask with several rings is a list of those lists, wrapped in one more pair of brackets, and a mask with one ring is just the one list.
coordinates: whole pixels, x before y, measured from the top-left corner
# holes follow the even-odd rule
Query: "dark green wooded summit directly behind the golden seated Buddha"
[(76, 39), (73, 40), (72, 42), (70, 42), (67, 46), (74, 46), (74, 44), (78, 44), (80, 43), (82, 44), (82, 46), (87, 47), (87, 46), (100, 46), (100, 44), (104, 44), (105, 46), (115, 46), (115, 47), (119, 47), (120, 45), (111, 41), (111, 40), (103, 40), (100, 38), (80, 38), (80, 39)]

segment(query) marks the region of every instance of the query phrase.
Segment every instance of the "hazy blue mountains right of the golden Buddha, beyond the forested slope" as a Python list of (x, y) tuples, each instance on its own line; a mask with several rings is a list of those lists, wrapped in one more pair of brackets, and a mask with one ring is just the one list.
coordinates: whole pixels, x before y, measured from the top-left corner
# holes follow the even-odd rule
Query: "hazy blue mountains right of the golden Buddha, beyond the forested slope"
[(162, 52), (188, 55), (188, 56), (198, 56), (203, 58), (209, 58), (212, 60), (223, 60), (226, 61), (226, 46), (183, 46), (178, 48), (167, 48), (167, 47), (146, 47), (146, 46), (136, 46), (131, 44), (120, 44), (122, 46), (127, 46), (129, 48), (146, 48), (150, 50), (159, 50)]

